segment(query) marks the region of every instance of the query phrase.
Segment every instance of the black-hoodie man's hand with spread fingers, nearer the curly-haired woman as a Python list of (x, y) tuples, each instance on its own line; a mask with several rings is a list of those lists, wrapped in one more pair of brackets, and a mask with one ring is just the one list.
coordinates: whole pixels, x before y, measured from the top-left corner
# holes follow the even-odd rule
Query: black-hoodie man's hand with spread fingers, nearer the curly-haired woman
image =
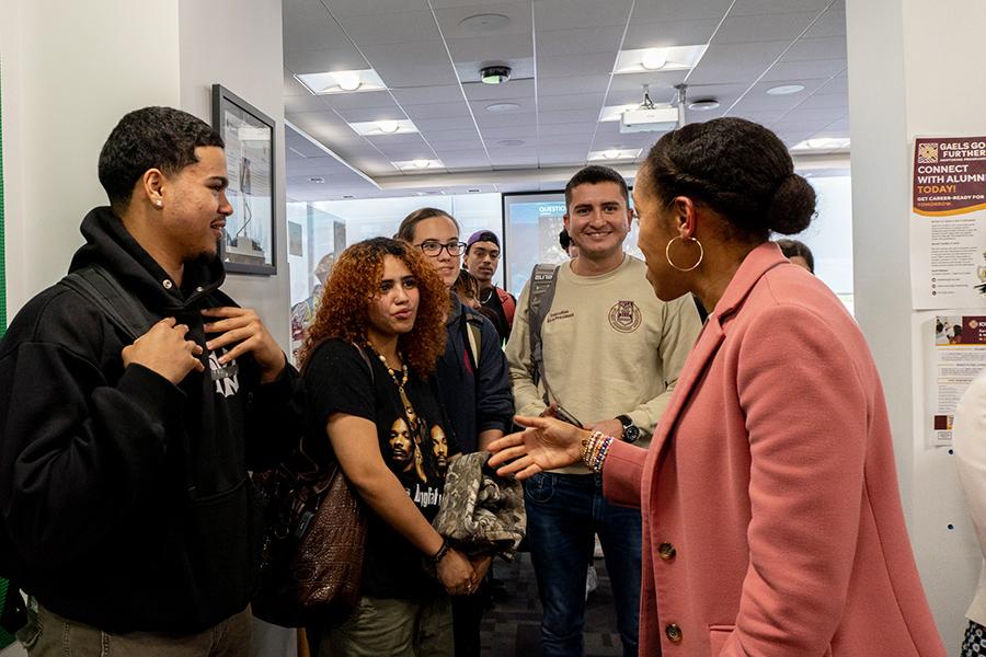
[(253, 359), (261, 368), (262, 383), (273, 381), (284, 370), (287, 358), (255, 311), (222, 307), (207, 308), (202, 314), (216, 319), (205, 325), (207, 334), (219, 334), (206, 343), (210, 351), (234, 345), (219, 358), (219, 365), (226, 365), (244, 354), (253, 354)]

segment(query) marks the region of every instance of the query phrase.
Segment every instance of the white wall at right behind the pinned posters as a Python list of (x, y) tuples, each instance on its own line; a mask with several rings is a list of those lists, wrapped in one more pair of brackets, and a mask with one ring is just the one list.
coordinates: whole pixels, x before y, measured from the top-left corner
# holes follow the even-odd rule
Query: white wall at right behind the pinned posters
[(943, 12), (916, 0), (857, 0), (847, 20), (856, 314), (886, 391), (918, 567), (955, 654), (979, 555), (952, 456), (925, 442), (922, 391), (933, 379), (920, 356), (929, 313), (910, 308), (908, 176), (915, 136), (983, 134), (986, 73), (971, 64), (984, 61), (986, 3), (955, 0)]

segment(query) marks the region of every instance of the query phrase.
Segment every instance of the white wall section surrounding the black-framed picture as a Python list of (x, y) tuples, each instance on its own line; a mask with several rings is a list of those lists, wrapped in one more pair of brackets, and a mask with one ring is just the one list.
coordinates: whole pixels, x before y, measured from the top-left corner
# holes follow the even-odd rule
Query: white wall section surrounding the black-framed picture
[(222, 287), (255, 308), (287, 350), (290, 275), (284, 194), (284, 48), (280, 0), (179, 0), (181, 107), (211, 123), (211, 87), (219, 83), (273, 118), (276, 276), (230, 274)]

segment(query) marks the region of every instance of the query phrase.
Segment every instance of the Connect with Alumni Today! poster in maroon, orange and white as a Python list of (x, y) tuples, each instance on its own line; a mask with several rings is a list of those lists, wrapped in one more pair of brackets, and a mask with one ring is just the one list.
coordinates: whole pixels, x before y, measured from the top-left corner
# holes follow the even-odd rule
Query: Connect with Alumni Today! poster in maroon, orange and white
[(986, 308), (986, 137), (919, 137), (913, 172), (914, 308)]

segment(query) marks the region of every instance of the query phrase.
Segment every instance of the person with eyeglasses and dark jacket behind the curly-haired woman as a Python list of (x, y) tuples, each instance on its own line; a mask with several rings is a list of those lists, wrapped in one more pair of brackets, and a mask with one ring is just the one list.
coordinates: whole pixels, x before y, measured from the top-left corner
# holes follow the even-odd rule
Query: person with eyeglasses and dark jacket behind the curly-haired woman
[[(449, 298), (445, 351), (436, 376), (454, 441), (462, 453), (486, 449), (512, 426), (514, 400), (500, 334), (452, 291), (466, 251), (459, 223), (448, 212), (421, 208), (401, 221), (397, 237), (424, 254)], [(473, 562), (478, 581), (483, 581), (491, 562), (492, 556)], [(480, 622), (488, 595), (486, 587), (480, 586), (478, 593), (452, 600), (456, 655), (460, 657), (480, 654)]]

